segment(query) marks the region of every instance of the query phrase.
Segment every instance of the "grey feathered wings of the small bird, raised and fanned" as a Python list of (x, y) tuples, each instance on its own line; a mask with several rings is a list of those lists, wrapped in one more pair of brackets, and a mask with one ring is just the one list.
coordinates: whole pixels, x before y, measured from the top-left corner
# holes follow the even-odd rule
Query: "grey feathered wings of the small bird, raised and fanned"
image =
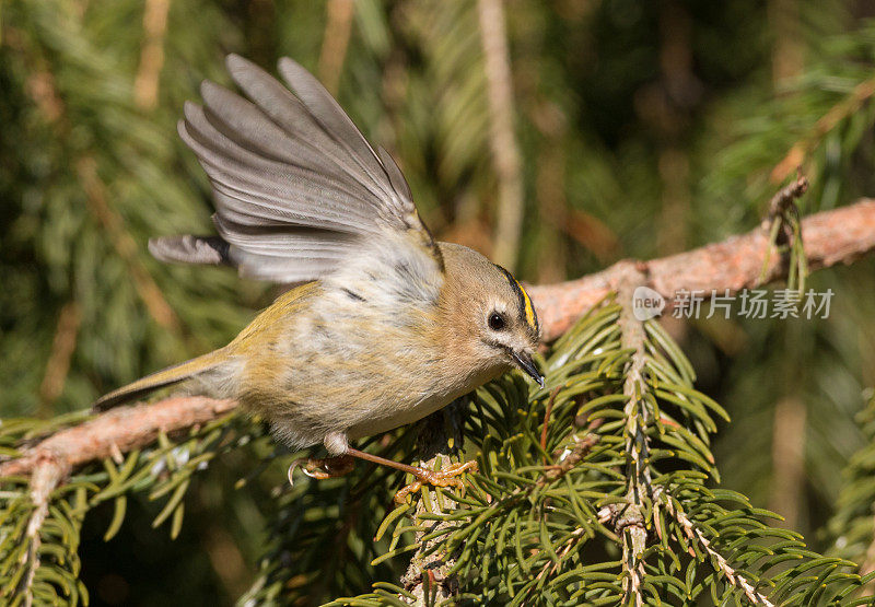
[(382, 148), (374, 151), (311, 73), (281, 59), (287, 89), (236, 55), (228, 68), (250, 101), (206, 81), (203, 106), (186, 104), (179, 121), (210, 177), (221, 238), (158, 238), (153, 255), (302, 282), (332, 272), (363, 240), (390, 235), (393, 246), (419, 249), (442, 272), (440, 249), (398, 165)]

